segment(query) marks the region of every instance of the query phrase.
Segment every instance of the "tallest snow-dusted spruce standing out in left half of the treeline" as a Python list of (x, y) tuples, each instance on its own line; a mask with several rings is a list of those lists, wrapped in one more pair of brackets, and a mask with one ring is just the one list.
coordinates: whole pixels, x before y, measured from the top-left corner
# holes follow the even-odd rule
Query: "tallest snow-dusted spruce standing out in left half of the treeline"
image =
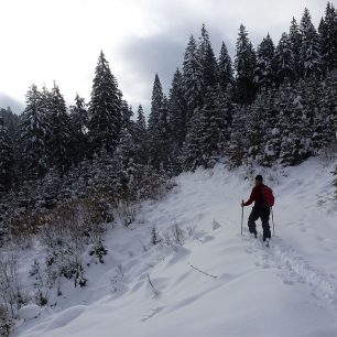
[(101, 52), (89, 104), (88, 138), (91, 153), (99, 153), (105, 148), (111, 154), (118, 144), (121, 127), (121, 93)]

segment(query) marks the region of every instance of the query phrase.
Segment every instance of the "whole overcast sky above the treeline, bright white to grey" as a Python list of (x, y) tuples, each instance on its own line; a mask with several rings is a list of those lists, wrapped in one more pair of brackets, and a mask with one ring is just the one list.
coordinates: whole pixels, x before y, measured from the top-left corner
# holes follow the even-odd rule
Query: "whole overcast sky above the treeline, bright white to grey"
[[(20, 101), (33, 83), (55, 79), (68, 104), (89, 100), (100, 50), (124, 98), (149, 109), (159, 74), (167, 91), (189, 37), (205, 23), (218, 55), (231, 56), (240, 23), (254, 46), (276, 43), (305, 7), (317, 26), (326, 0), (0, 0), (0, 93)], [(331, 1), (334, 3), (334, 1)], [(0, 101), (1, 106), (1, 101)], [(146, 111), (148, 112), (148, 111)]]

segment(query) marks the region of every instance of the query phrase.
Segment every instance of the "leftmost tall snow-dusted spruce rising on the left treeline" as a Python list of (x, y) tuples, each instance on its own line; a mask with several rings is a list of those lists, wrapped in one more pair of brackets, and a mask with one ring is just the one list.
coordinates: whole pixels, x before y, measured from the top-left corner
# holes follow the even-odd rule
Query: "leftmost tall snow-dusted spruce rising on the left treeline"
[(26, 94), (26, 108), (20, 122), (24, 172), (31, 178), (42, 178), (47, 172), (50, 128), (50, 117), (44, 109), (42, 95), (32, 85)]

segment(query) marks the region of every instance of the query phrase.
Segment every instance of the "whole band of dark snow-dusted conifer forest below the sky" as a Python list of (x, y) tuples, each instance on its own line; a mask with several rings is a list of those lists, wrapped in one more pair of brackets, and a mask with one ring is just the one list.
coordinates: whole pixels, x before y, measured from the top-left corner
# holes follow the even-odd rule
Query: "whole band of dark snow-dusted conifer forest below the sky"
[(155, 74), (148, 121), (123, 99), (104, 52), (88, 102), (77, 95), (67, 108), (55, 83), (33, 84), (25, 100), (20, 117), (1, 109), (2, 231), (12, 209), (101, 192), (115, 203), (143, 198), (151, 184), (219, 160), (296, 165), (336, 143), (337, 12), (327, 3), (316, 29), (305, 9), (279, 42), (267, 34), (257, 48), (241, 24), (233, 59), (225, 42), (215, 55), (203, 25), (167, 95)]

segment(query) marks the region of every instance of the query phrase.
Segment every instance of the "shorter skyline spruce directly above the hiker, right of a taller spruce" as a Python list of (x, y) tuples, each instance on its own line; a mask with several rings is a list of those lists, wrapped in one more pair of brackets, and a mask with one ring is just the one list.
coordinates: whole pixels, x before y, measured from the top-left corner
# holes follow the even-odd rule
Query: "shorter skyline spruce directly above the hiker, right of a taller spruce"
[(268, 34), (258, 47), (254, 83), (258, 87), (270, 87), (274, 81), (274, 43)]

